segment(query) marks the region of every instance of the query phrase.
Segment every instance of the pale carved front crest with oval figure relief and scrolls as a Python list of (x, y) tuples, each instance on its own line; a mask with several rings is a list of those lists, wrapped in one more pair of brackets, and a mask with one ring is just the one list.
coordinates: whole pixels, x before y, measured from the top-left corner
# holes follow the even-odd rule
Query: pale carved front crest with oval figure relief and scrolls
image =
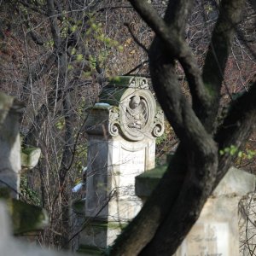
[[(116, 110), (115, 110), (116, 111)], [(131, 78), (119, 102), (119, 113), (110, 111), (109, 133), (131, 141), (159, 137), (164, 131), (164, 114), (156, 110), (154, 96), (145, 78)]]

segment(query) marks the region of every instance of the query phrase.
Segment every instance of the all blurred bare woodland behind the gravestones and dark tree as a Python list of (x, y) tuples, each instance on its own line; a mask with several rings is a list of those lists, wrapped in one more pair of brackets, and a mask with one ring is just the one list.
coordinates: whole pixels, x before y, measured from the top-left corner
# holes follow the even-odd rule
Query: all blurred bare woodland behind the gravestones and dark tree
[[(164, 14), (167, 1), (150, 2)], [(200, 67), (218, 19), (218, 4), (195, 0), (185, 30)], [(224, 73), (222, 106), (247, 90), (255, 77), (255, 18), (247, 3)], [(42, 150), (38, 167), (22, 177), (26, 200), (49, 212), (50, 226), (39, 238), (41, 243), (67, 246), (71, 189), (86, 166), (84, 120), (109, 77), (133, 74), (150, 79), (147, 51), (153, 37), (128, 1), (0, 1), (0, 90), (26, 103), (20, 119), (22, 146)], [(179, 64), (177, 74), (189, 98)], [(251, 172), (255, 139), (251, 137), (236, 162)], [(170, 125), (157, 143), (159, 158), (175, 150), (178, 141)]]

